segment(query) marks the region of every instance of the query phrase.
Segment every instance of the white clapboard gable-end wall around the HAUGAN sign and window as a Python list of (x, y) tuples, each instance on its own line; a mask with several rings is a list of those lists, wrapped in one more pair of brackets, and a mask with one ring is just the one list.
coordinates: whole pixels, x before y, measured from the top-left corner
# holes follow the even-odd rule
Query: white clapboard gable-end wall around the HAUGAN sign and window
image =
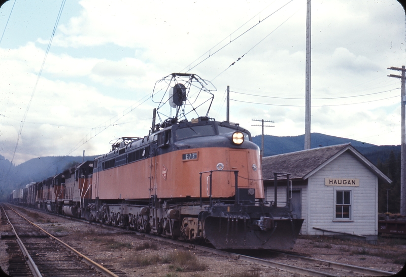
[[(357, 178), (359, 187), (325, 186), (325, 178)], [(378, 234), (378, 177), (353, 155), (344, 152), (309, 177), (308, 190), (309, 209), (307, 216), (303, 216), (307, 224), (306, 231), (302, 228), (302, 233), (322, 234), (321, 231), (313, 229), (318, 227), (359, 235)], [(350, 221), (335, 220), (335, 190), (351, 190)], [(302, 214), (304, 214), (303, 206), (304, 202), (302, 202)]]

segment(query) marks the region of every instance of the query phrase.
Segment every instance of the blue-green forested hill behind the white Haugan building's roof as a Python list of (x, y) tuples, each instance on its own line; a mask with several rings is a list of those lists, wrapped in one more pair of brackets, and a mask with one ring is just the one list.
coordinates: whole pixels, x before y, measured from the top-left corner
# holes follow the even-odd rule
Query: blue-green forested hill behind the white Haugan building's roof
[[(261, 147), (261, 135), (255, 136), (252, 140)], [(334, 137), (320, 133), (312, 133), (311, 148), (320, 146), (329, 146), (343, 143), (351, 143), (359, 152), (361, 152), (370, 162), (377, 165), (378, 159), (385, 162), (391, 151), (395, 156), (400, 153), (400, 145), (374, 145), (353, 139)], [(264, 156), (271, 156), (289, 152), (303, 150), (304, 135), (277, 137), (264, 135)]]

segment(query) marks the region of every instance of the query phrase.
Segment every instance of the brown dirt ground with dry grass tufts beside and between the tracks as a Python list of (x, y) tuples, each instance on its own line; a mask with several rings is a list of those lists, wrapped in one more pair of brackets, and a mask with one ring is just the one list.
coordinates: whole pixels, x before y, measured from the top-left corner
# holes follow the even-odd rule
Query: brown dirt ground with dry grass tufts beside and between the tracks
[[(41, 227), (59, 236), (90, 259), (114, 268), (121, 276), (297, 276), (284, 270), (234, 260), (170, 243), (148, 239), (143, 235), (100, 228), (88, 223), (56, 218), (36, 212), (26, 213)], [(0, 232), (9, 226), (1, 226)], [(0, 266), (7, 269), (8, 254), (0, 240)], [(397, 272), (406, 261), (406, 240), (382, 239), (377, 245), (343, 241), (327, 237), (301, 236), (291, 250), (307, 256)]]

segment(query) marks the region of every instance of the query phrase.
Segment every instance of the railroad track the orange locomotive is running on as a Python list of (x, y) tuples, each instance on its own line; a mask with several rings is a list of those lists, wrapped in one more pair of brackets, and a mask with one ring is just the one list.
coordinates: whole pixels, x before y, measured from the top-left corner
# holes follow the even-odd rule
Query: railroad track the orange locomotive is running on
[[(39, 212), (38, 210), (35, 210)], [(49, 213), (46, 213), (49, 215)], [(59, 216), (54, 214), (55, 216)], [(62, 216), (64, 218), (70, 218), (66, 216)], [(88, 221), (84, 221), (81, 219), (70, 218), (76, 221), (83, 221), (87, 224)], [(90, 222), (91, 224), (100, 225), (105, 228), (113, 228), (117, 229), (117, 227), (97, 223), (97, 222)], [(121, 228), (120, 228), (121, 229)], [(131, 231), (134, 234), (141, 234), (136, 231)], [(308, 276), (389, 276), (393, 275), (394, 272), (376, 270), (371, 268), (353, 266), (348, 264), (330, 262), (325, 260), (319, 260), (309, 257), (300, 256), (297, 254), (291, 254), (289, 252), (284, 251), (268, 251), (268, 255), (266, 251), (261, 252), (261, 257), (254, 256), (251, 254), (242, 254), (242, 253), (231, 253), (227, 251), (216, 250), (206, 246), (199, 246), (193, 245), (181, 241), (175, 241), (167, 238), (162, 238), (156, 235), (145, 234), (146, 238), (158, 241), (164, 241), (176, 245), (181, 245), (187, 248), (194, 248), (201, 251), (206, 251), (209, 253), (215, 253), (221, 256), (226, 256), (232, 259), (240, 259), (246, 262), (255, 263), (258, 265), (267, 266), (270, 268), (278, 268), (280, 270), (286, 270), (292, 272), (293, 275), (295, 274), (302, 274)], [(252, 251), (254, 253), (254, 251)], [(265, 253), (265, 254), (264, 254)], [(273, 254), (269, 254), (273, 253)]]

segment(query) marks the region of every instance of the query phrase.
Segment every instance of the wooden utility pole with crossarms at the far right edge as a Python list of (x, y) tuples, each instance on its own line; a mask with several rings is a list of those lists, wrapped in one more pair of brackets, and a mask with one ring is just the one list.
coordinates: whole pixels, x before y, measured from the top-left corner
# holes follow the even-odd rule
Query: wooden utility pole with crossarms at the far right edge
[(402, 72), (402, 75), (390, 74), (389, 77), (400, 78), (401, 87), (400, 87), (400, 96), (401, 96), (401, 116), (402, 116), (402, 144), (400, 145), (400, 215), (406, 215), (406, 165), (404, 164), (404, 159), (406, 157), (406, 128), (405, 128), (405, 103), (406, 103), (406, 68), (402, 65), (402, 68), (399, 67), (389, 67), (390, 70), (398, 70)]

